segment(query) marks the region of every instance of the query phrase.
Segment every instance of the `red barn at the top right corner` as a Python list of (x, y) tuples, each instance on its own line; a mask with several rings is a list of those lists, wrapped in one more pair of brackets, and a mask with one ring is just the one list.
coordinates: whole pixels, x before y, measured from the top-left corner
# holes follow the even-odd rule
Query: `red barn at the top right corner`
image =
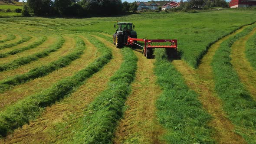
[(256, 0), (231, 0), (230, 8), (236, 7), (256, 7)]

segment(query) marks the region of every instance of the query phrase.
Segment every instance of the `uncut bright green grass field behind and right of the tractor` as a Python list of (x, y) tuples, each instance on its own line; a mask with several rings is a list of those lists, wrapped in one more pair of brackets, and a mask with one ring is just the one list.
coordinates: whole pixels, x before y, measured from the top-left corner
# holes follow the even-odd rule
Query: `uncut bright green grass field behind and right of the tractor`
[[(220, 10), (202, 13), (155, 13), (120, 17), (84, 19), (90, 25), (67, 28), (75, 31), (94, 31), (112, 34), (116, 21), (135, 24), (138, 38), (178, 39), (183, 59), (196, 67), (209, 43), (229, 34), (244, 24), (255, 21), (256, 11)], [(213, 34), (214, 33), (214, 34)]]

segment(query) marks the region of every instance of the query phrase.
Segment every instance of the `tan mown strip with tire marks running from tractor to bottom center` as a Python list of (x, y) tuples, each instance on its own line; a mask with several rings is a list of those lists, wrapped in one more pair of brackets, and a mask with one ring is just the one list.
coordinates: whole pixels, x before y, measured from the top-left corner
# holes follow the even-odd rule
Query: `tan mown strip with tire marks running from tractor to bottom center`
[(115, 144), (151, 143), (158, 144), (158, 137), (164, 133), (158, 124), (155, 101), (161, 93), (154, 75), (154, 59), (146, 59), (141, 50), (134, 51), (138, 57), (135, 81), (131, 83), (131, 95), (128, 96), (127, 109), (115, 131)]

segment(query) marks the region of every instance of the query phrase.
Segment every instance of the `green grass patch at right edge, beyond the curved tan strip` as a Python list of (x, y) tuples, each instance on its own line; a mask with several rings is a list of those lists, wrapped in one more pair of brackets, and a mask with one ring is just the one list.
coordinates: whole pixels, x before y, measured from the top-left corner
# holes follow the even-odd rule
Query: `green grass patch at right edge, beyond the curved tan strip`
[(246, 42), (245, 54), (253, 69), (256, 70), (256, 33)]

